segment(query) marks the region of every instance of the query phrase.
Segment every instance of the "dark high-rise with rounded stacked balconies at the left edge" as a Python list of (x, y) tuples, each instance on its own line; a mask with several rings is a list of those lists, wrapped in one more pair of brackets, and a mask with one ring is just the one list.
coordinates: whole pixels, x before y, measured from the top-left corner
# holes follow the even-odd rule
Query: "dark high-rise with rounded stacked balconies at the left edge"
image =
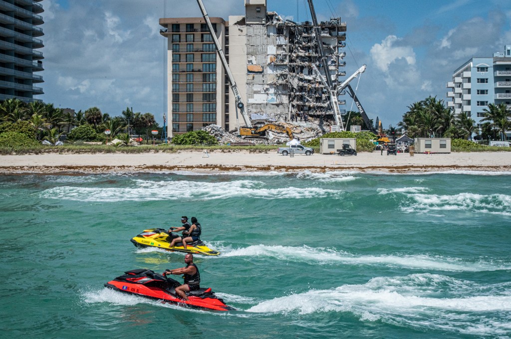
[(0, 100), (31, 102), (43, 94), (41, 0), (0, 0)]

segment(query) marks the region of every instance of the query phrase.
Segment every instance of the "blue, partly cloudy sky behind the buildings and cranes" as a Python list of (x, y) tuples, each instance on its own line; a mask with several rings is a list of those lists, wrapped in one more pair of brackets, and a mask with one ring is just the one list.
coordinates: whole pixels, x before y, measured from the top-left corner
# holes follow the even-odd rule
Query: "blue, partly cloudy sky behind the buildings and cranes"
[[(210, 17), (244, 14), (244, 0), (203, 0)], [(193, 0), (44, 0), (44, 94), (55, 107), (98, 107), (117, 116), (127, 107), (152, 113), (166, 106), (162, 17), (201, 17)], [(306, 0), (267, 0), (268, 11), (297, 22)], [(472, 57), (511, 45), (509, 0), (314, 0), (318, 21), (346, 22), (346, 76), (369, 119), (396, 126), (408, 106), (428, 96), (446, 100), (452, 73)], [(345, 109), (357, 111), (348, 96)], [(343, 107), (341, 107), (342, 109)]]

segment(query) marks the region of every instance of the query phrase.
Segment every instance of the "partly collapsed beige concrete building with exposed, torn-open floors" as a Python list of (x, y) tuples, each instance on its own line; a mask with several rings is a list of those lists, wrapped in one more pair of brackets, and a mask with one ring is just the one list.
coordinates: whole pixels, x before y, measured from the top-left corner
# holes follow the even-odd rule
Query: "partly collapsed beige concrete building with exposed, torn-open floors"
[[(287, 125), (295, 135), (305, 133), (302, 138), (330, 132), (333, 116), (329, 91), (323, 83), (324, 77), (331, 76), (335, 87), (345, 75), (342, 49), (346, 24), (340, 18), (319, 23), (328, 74), (321, 65), (312, 22), (284, 20), (267, 11), (266, 0), (245, 0), (245, 15), (211, 21), (252, 124)], [(160, 34), (169, 39), (167, 102), (172, 108), (169, 136), (208, 124), (222, 126), (226, 131), (238, 128), (235, 96), (219, 58), (214, 55), (204, 19), (162, 18), (159, 22), (164, 27)], [(185, 69), (180, 63), (187, 64)], [(179, 87), (181, 82), (186, 84), (185, 89)], [(185, 102), (186, 112), (180, 102)], [(339, 103), (345, 104), (344, 100)], [(215, 114), (215, 121), (211, 113)]]

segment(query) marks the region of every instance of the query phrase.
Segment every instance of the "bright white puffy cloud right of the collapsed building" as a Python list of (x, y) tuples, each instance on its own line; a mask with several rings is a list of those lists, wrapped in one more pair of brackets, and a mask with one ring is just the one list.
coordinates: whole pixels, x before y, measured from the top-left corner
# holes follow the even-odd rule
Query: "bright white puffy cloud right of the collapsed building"
[(408, 65), (415, 64), (415, 53), (411, 46), (394, 46), (400, 40), (395, 35), (389, 35), (381, 44), (375, 44), (371, 48), (371, 58), (380, 70), (387, 72), (389, 65), (399, 59), (406, 60)]

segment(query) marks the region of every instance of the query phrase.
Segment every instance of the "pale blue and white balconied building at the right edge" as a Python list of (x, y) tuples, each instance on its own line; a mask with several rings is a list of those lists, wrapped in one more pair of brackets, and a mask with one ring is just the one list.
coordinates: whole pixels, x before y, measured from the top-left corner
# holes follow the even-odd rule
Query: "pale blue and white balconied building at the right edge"
[(511, 45), (493, 58), (472, 58), (461, 65), (447, 88), (447, 106), (455, 114), (469, 113), (478, 127), (490, 103), (511, 109)]

